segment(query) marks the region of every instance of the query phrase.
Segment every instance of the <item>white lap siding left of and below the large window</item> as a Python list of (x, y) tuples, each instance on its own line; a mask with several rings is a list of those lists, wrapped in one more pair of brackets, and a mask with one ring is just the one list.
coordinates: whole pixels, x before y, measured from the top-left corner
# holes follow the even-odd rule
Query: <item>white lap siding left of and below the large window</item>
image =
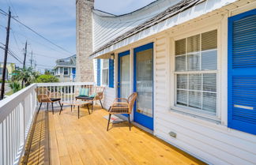
[[(168, 39), (156, 39), (155, 49), (155, 135), (208, 163), (255, 163), (256, 138), (253, 135), (170, 111), (168, 101), (173, 98), (168, 99), (171, 90)], [(176, 138), (168, 134), (171, 131), (177, 133)]]

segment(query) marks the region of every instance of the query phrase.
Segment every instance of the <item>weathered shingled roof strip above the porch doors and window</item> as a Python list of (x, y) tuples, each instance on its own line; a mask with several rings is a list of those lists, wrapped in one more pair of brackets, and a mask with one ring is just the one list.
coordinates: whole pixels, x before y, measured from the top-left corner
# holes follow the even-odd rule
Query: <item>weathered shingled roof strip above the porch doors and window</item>
[(186, 9), (189, 9), (190, 7), (197, 5), (198, 3), (204, 2), (205, 0), (184, 0), (182, 2), (177, 3), (175, 6), (171, 6), (170, 8), (166, 9), (164, 12), (157, 14), (155, 17), (152, 17), (149, 19), (149, 21), (145, 21), (145, 23), (142, 23), (138, 25), (135, 28), (132, 28), (128, 32), (123, 33), (121, 36), (116, 37), (115, 39), (112, 39), (110, 42), (104, 44), (104, 46), (100, 47), (96, 51), (94, 51), (90, 56), (93, 54), (96, 54), (100, 51), (103, 51), (107, 47), (111, 47), (115, 43), (119, 43), (123, 39), (126, 39), (130, 36), (134, 36), (138, 32), (141, 32), (147, 28), (152, 27), (155, 24), (159, 24), (162, 21), (165, 21), (169, 17), (173, 17), (178, 13), (183, 12)]

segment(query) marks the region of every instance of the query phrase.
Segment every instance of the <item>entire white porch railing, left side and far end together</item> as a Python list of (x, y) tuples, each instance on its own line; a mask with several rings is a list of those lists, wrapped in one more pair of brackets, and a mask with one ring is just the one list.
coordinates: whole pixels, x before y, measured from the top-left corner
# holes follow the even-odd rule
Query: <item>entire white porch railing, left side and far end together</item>
[(37, 111), (35, 88), (48, 88), (61, 92), (62, 100), (75, 99), (79, 88), (90, 88), (94, 83), (42, 83), (31, 84), (0, 101), (0, 165), (20, 163), (24, 144)]

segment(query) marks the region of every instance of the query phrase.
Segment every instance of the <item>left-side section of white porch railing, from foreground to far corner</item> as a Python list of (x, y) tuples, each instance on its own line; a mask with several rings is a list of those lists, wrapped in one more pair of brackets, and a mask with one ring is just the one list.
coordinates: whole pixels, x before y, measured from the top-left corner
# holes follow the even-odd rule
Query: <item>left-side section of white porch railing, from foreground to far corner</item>
[(0, 164), (17, 164), (36, 111), (36, 84), (0, 101)]

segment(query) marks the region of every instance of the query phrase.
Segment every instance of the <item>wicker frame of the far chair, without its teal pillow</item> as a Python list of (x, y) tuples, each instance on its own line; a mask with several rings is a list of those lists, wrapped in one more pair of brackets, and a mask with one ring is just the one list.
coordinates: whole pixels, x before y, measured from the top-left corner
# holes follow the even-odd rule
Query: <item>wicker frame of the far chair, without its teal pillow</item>
[[(82, 99), (82, 100), (88, 101), (88, 102), (91, 101), (92, 102), (92, 110), (93, 110), (93, 102), (99, 100), (100, 105), (103, 108), (101, 99), (103, 99), (103, 97), (104, 97), (104, 90), (105, 90), (104, 87), (98, 87), (98, 86), (89, 87), (89, 96), (76, 96), (76, 100)], [(96, 93), (96, 96), (90, 97), (90, 95), (92, 95), (93, 93)]]

